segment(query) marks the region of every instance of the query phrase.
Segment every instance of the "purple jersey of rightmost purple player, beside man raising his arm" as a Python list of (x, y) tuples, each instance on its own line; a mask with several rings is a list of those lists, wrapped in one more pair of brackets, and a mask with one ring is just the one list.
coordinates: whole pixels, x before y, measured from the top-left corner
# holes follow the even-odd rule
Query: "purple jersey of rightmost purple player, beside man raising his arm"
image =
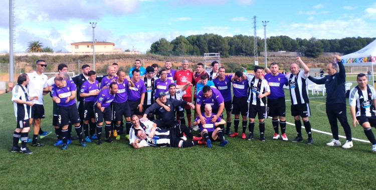
[(270, 95), (268, 99), (277, 99), (279, 97), (285, 97), (285, 90), (283, 90), (284, 85), (288, 85), (288, 79), (282, 73), (273, 76), (272, 73), (265, 74), (264, 78), (268, 81), (270, 86)]

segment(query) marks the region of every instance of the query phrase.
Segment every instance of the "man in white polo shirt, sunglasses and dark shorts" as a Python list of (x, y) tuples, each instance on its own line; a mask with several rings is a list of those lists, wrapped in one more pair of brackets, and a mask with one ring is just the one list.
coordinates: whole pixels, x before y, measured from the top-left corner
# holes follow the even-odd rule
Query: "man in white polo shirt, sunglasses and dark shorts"
[(31, 113), (29, 115), (30, 125), (33, 124), (33, 141), (32, 146), (44, 146), (45, 144), (38, 141), (38, 135), (41, 139), (50, 135), (52, 131), (43, 131), (41, 128), (42, 118), (45, 118), (45, 108), (43, 106), (43, 90), (44, 84), (47, 81), (47, 75), (43, 74), (45, 68), (47, 67), (46, 61), (39, 59), (36, 61), (36, 70), (32, 73), (28, 73), (30, 81), (27, 85), (28, 92), (30, 96), (38, 96), (38, 98), (33, 99), (34, 105), (31, 107)]

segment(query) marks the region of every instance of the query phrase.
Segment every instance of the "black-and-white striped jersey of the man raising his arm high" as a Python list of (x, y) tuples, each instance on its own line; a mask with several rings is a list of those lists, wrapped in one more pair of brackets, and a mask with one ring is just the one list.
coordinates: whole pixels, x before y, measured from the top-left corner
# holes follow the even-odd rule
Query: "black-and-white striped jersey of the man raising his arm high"
[(308, 87), (307, 77), (309, 73), (304, 74), (303, 70), (300, 70), (298, 74), (287, 74), (287, 80), (289, 82), (291, 104), (309, 103), (308, 100)]

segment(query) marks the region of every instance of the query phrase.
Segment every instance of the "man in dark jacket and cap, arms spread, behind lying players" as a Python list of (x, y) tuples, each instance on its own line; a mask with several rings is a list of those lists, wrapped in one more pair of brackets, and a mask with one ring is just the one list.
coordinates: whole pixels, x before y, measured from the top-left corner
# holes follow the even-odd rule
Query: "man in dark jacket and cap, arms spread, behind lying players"
[(167, 105), (169, 107), (169, 110), (164, 109), (163, 106), (161, 106), (157, 102), (155, 102), (145, 110), (142, 120), (147, 119), (147, 114), (150, 111), (158, 110), (160, 120), (155, 119), (154, 122), (160, 128), (168, 128), (168, 127), (175, 126), (176, 124), (179, 124), (179, 122), (175, 118), (174, 108), (176, 106), (190, 105), (190, 107), (192, 109), (195, 108), (195, 105), (191, 102), (187, 102), (187, 101), (184, 101), (184, 100), (172, 99), (172, 98), (167, 99), (166, 93), (163, 92), (163, 91), (159, 92), (158, 95), (159, 95), (159, 97), (158, 97), (159, 101), (162, 102), (164, 105)]

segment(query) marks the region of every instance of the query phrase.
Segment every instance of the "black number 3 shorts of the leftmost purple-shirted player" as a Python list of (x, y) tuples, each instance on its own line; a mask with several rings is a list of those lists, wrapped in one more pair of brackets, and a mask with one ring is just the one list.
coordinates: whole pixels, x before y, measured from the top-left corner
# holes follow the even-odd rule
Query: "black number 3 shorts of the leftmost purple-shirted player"
[(80, 123), (80, 116), (78, 115), (76, 104), (69, 106), (58, 106), (59, 118), (58, 126), (68, 125), (69, 122)]

